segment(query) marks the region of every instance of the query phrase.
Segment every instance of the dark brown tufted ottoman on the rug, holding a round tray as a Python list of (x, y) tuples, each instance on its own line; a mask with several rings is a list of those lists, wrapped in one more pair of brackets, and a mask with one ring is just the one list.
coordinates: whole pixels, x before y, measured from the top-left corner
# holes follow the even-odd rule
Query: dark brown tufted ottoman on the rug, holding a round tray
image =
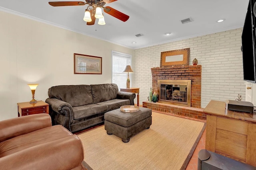
[(152, 124), (151, 109), (140, 107), (140, 111), (134, 113), (122, 112), (120, 109), (108, 111), (104, 115), (105, 130), (108, 135), (116, 135), (124, 143), (130, 141), (130, 137), (143, 129), (149, 129)]

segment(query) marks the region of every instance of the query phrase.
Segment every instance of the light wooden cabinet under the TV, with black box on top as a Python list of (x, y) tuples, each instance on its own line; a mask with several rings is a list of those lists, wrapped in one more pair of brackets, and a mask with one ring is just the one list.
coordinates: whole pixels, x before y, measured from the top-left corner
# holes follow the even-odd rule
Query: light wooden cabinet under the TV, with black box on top
[(256, 166), (256, 113), (226, 110), (211, 100), (206, 113), (206, 150)]

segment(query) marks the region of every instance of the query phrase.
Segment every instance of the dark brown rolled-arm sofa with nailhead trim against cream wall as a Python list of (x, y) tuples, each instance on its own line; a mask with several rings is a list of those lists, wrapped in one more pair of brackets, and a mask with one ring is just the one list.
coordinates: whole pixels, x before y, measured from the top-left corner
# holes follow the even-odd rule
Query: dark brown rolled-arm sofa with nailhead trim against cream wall
[(61, 85), (48, 90), (53, 125), (75, 132), (104, 122), (104, 113), (134, 105), (135, 93), (120, 92), (116, 84)]

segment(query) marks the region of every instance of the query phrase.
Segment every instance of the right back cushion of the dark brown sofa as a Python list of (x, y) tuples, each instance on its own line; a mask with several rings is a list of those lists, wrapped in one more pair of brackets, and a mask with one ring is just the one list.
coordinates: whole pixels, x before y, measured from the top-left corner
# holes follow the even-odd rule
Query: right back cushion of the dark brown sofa
[(90, 86), (92, 86), (94, 104), (117, 97), (118, 86), (116, 84), (93, 84)]

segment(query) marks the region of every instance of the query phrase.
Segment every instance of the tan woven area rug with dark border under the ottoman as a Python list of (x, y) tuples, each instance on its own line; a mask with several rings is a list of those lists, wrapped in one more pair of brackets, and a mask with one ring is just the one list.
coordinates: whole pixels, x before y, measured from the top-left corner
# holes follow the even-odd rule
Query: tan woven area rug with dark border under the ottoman
[(152, 125), (128, 143), (104, 125), (78, 135), (88, 170), (185, 170), (205, 124), (152, 112)]

